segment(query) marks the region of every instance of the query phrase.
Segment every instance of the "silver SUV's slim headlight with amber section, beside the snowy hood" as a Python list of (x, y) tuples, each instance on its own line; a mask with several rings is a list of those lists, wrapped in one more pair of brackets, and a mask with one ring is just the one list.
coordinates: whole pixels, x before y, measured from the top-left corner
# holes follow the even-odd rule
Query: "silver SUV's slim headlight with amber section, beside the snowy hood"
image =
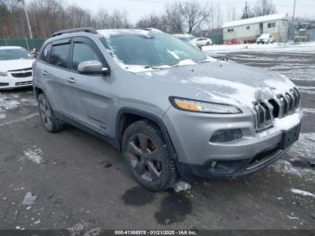
[(169, 100), (175, 108), (194, 113), (242, 113), (238, 107), (231, 104), (209, 103), (173, 96)]

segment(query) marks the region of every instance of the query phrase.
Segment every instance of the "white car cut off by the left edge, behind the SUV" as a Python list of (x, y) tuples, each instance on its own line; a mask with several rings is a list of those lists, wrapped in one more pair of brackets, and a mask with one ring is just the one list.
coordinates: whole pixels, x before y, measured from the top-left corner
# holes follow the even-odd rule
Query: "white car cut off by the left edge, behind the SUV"
[(22, 47), (0, 47), (0, 90), (32, 86), (33, 62)]

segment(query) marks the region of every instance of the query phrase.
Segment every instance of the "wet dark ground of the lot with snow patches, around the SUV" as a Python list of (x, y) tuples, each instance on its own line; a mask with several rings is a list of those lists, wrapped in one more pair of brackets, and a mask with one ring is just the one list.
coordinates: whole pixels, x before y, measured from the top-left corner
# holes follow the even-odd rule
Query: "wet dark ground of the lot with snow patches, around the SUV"
[(153, 194), (107, 143), (72, 127), (45, 132), (31, 90), (2, 92), (0, 229), (315, 230), (315, 169), (308, 164), (315, 157), (315, 50), (228, 57), (283, 73), (300, 87), (301, 140), (284, 159), (250, 177)]

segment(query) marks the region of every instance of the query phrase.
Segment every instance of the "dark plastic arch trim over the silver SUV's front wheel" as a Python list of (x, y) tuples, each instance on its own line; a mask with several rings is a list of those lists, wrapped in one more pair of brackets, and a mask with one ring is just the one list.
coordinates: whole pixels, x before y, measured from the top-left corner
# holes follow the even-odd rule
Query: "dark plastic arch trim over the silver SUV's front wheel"
[(116, 132), (116, 142), (121, 150), (121, 138), (123, 132), (127, 127), (134, 122), (146, 119), (157, 125), (159, 130), (162, 132), (163, 138), (166, 141), (166, 149), (169, 151), (172, 159), (177, 158), (177, 154), (172, 143), (172, 140), (167, 132), (166, 126), (162, 119), (153, 113), (143, 112), (133, 108), (121, 108), (117, 114), (115, 132)]

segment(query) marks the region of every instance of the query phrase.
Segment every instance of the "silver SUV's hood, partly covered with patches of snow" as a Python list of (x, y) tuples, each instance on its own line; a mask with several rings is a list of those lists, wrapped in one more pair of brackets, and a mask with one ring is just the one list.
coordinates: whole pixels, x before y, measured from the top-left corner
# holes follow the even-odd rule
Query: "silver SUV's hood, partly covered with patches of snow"
[(294, 87), (287, 77), (272, 71), (223, 61), (142, 73), (172, 83), (174, 92), (167, 91), (172, 95), (247, 107)]

